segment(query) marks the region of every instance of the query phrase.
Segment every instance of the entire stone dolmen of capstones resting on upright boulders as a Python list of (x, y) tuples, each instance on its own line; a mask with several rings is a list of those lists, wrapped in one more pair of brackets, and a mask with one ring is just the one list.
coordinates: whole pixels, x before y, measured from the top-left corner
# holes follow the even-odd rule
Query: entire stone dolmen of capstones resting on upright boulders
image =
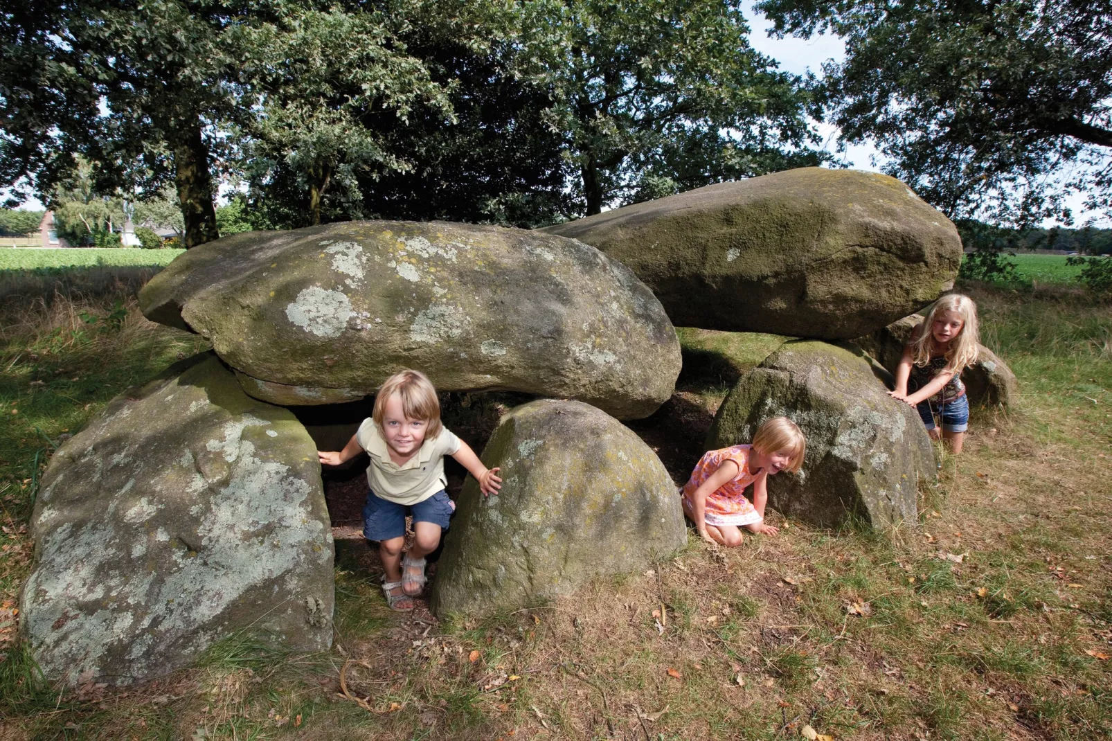
[(70, 685), (158, 676), (245, 632), (328, 648), (330, 526), (290, 408), (363, 399), (401, 367), (536, 399), (483, 451), (500, 494), (464, 487), (441, 616), (537, 604), (686, 542), (677, 482), (620, 422), (672, 396), (683, 358), (715, 358), (732, 384), (707, 447), (781, 414), (807, 436), (803, 471), (770, 480), (775, 508), (914, 524), (933, 451), (882, 365), (960, 260), (953, 224), (902, 182), (820, 168), (540, 230), (353, 221), (196, 247), (139, 299), (212, 352), (57, 451), (21, 630)]

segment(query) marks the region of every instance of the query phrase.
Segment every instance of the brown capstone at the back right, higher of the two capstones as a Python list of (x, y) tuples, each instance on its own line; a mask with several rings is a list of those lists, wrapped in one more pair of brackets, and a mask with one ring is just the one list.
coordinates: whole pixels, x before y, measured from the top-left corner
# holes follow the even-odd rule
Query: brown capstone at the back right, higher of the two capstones
[(953, 286), (957, 229), (894, 178), (807, 167), (547, 227), (628, 266), (678, 326), (848, 339)]

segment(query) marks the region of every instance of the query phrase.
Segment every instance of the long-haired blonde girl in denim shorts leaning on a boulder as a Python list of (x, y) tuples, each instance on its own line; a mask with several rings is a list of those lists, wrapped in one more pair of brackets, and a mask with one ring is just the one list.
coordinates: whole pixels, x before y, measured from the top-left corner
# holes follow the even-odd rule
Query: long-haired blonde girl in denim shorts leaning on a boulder
[(912, 330), (896, 367), (895, 391), (888, 392), (919, 409), (932, 439), (939, 439), (937, 413), (942, 437), (954, 453), (962, 452), (970, 418), (961, 373), (976, 363), (977, 347), (976, 304), (969, 296), (947, 294)]

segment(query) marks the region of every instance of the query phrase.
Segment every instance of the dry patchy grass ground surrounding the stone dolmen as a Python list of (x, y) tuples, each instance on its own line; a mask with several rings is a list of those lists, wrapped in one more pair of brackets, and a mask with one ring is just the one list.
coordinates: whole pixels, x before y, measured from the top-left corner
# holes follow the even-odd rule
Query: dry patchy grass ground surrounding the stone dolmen
[[(205, 346), (120, 295), (12, 309), (0, 322), (0, 738), (772, 740), (804, 724), (836, 739), (1108, 738), (1112, 307), (963, 289), (1021, 396), (974, 415), (919, 527), (781, 522), (777, 537), (693, 541), (652, 573), (544, 607), (434, 625), (389, 613), (347, 546), (331, 652), (242, 635), (169, 678), (81, 693), (57, 692), (12, 641), (41, 460), (127, 385)], [(697, 379), (683, 392), (692, 414), (704, 395), (721, 401)], [(340, 693), (345, 666), (364, 705)]]

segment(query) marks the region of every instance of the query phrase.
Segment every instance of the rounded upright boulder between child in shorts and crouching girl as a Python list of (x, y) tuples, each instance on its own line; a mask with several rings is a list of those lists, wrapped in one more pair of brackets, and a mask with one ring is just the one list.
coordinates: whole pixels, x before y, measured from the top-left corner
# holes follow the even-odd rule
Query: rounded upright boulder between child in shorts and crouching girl
[(484, 498), (474, 480), (464, 485), (433, 584), (438, 615), (536, 604), (594, 576), (643, 570), (686, 542), (664, 464), (587, 404), (513, 409), (483, 462), (502, 468), (502, 492)]

